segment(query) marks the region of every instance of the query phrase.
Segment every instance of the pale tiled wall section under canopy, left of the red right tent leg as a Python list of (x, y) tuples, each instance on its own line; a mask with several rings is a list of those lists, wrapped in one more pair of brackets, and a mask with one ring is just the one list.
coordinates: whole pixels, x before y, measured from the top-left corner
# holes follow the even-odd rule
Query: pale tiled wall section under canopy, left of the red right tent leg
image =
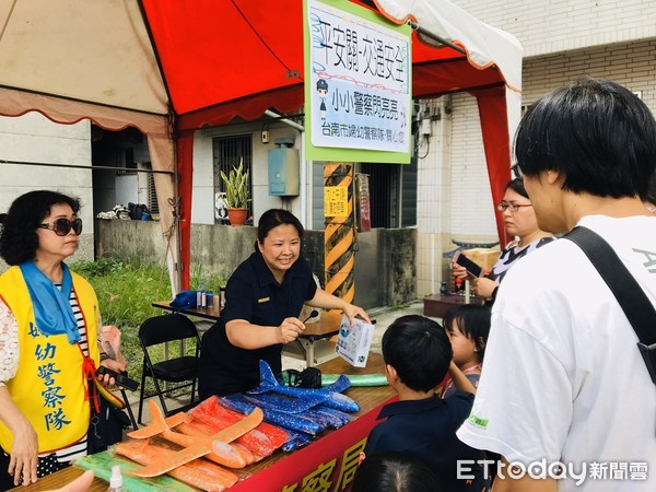
[(443, 109), (442, 119), (432, 122), (432, 148), (419, 165), (420, 297), (437, 293), (440, 283), (448, 279), (449, 261), (443, 254), (457, 247), (452, 239), (497, 241), (476, 98), (459, 93), (429, 104)]

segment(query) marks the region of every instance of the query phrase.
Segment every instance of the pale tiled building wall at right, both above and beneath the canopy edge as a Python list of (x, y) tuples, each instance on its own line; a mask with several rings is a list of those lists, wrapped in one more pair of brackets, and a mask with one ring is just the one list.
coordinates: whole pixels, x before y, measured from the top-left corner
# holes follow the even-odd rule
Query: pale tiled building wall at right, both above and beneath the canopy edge
[[(523, 105), (590, 75), (614, 80), (639, 92), (656, 113), (656, 1), (454, 2), (514, 34), (523, 44)], [(442, 255), (455, 248), (452, 239), (497, 241), (476, 99), (467, 93), (450, 97), (449, 137), (434, 140), (438, 147), (423, 157), (420, 154), (419, 160), (421, 176), (450, 175), (448, 192), (426, 185), (425, 192), (419, 194), (420, 297), (437, 293), (440, 281), (448, 279), (448, 261)], [(446, 161), (450, 161), (449, 169), (441, 169), (440, 163)], [(427, 176), (425, 179), (431, 181)], [(420, 178), (421, 184), (427, 181)]]

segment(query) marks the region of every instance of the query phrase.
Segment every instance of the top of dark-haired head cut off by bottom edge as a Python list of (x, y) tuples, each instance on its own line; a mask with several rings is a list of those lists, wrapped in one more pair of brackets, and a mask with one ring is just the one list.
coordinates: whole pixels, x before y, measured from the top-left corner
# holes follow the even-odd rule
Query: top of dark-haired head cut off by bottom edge
[(351, 492), (441, 492), (431, 469), (419, 458), (400, 452), (367, 456), (355, 470)]

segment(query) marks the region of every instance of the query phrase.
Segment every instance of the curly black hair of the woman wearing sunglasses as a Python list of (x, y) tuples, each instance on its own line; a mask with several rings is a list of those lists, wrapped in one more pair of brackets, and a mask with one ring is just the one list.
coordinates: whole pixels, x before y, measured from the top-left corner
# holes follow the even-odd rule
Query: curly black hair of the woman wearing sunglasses
[(2, 234), (0, 235), (0, 256), (9, 265), (21, 265), (34, 259), (38, 248), (36, 230), (44, 219), (50, 214), (55, 204), (68, 204), (73, 213), (80, 211), (80, 200), (57, 191), (30, 191), (16, 198), (8, 213), (0, 216)]

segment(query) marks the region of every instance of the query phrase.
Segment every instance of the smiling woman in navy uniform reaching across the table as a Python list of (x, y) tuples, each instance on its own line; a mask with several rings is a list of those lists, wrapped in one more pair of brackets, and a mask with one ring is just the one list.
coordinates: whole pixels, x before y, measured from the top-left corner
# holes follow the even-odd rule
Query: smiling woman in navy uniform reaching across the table
[(198, 391), (201, 399), (231, 395), (259, 384), (259, 361), (280, 375), (282, 347), (296, 340), (305, 325), (297, 318), (303, 304), (342, 309), (351, 323), (358, 306), (318, 289), (301, 258), (303, 225), (291, 212), (262, 214), (255, 253), (237, 267), (225, 290), (221, 319), (203, 336)]

